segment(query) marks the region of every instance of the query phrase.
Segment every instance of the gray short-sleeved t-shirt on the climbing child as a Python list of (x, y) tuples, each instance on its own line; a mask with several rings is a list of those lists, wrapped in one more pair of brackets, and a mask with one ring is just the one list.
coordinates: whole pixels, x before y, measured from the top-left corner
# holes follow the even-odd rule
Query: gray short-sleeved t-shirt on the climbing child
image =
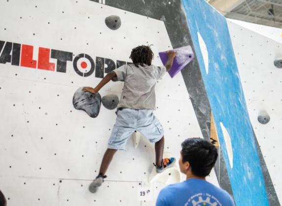
[(117, 75), (114, 80), (125, 82), (118, 108), (155, 110), (154, 88), (157, 80), (166, 73), (164, 66), (128, 64), (113, 71)]

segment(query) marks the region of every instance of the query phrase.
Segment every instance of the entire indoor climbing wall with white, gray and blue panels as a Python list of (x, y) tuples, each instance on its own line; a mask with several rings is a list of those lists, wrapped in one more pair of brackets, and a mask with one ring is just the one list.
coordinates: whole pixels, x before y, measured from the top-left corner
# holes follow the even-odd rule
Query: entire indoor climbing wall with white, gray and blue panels
[[(280, 204), (281, 30), (226, 21), (205, 0), (3, 0), (0, 8), (0, 189), (9, 206), (154, 205), (165, 183), (148, 182), (154, 145), (144, 137), (136, 149), (130, 138), (99, 192), (88, 191), (116, 115), (102, 105), (91, 118), (73, 105), (78, 88), (130, 63), (141, 44), (153, 44), (155, 65), (172, 48), (195, 54), (157, 82), (165, 152), (179, 157), (184, 139), (210, 139), (220, 155), (208, 181), (237, 205)], [(100, 94), (122, 88), (110, 82)]]

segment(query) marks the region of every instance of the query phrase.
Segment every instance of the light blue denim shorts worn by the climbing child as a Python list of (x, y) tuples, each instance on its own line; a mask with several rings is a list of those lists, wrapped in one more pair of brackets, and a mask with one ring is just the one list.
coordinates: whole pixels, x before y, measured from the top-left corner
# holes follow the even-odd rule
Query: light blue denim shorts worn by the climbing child
[(136, 130), (150, 142), (159, 141), (164, 130), (151, 109), (119, 108), (108, 142), (109, 149), (125, 150), (128, 138)]

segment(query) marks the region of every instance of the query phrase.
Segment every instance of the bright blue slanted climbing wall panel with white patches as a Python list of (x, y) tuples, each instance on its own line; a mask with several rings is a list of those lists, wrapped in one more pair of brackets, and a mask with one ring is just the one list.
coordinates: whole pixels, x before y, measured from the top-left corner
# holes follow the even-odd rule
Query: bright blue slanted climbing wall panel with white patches
[[(236, 205), (269, 205), (227, 21), (205, 0), (182, 0)], [(199, 34), (208, 54), (201, 51)], [(230, 143), (224, 138), (224, 125)], [(231, 152), (228, 152), (231, 145)], [(232, 154), (232, 162), (230, 159)]]

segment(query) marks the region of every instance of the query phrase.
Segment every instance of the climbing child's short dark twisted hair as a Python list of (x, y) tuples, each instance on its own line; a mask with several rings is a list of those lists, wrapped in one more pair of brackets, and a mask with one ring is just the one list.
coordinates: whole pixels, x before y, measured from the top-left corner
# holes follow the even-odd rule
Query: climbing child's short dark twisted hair
[(152, 64), (152, 59), (154, 58), (154, 53), (151, 50), (151, 45), (142, 45), (133, 48), (129, 58), (132, 59), (132, 62), (136, 67), (138, 67), (139, 64), (142, 67), (144, 66), (144, 64), (150, 66)]

